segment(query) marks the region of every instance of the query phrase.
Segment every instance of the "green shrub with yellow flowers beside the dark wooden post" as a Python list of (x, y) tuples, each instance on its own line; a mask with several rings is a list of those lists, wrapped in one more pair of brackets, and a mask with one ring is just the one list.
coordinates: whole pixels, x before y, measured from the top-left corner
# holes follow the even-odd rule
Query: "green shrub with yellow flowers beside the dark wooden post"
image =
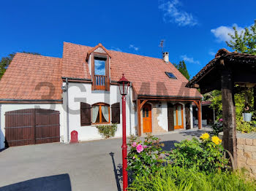
[(200, 136), (201, 141), (193, 138), (175, 144), (176, 149), (170, 152), (172, 165), (191, 168), (195, 166), (200, 171), (224, 171), (228, 160), (224, 158), (222, 140), (217, 136), (210, 137), (208, 133)]

